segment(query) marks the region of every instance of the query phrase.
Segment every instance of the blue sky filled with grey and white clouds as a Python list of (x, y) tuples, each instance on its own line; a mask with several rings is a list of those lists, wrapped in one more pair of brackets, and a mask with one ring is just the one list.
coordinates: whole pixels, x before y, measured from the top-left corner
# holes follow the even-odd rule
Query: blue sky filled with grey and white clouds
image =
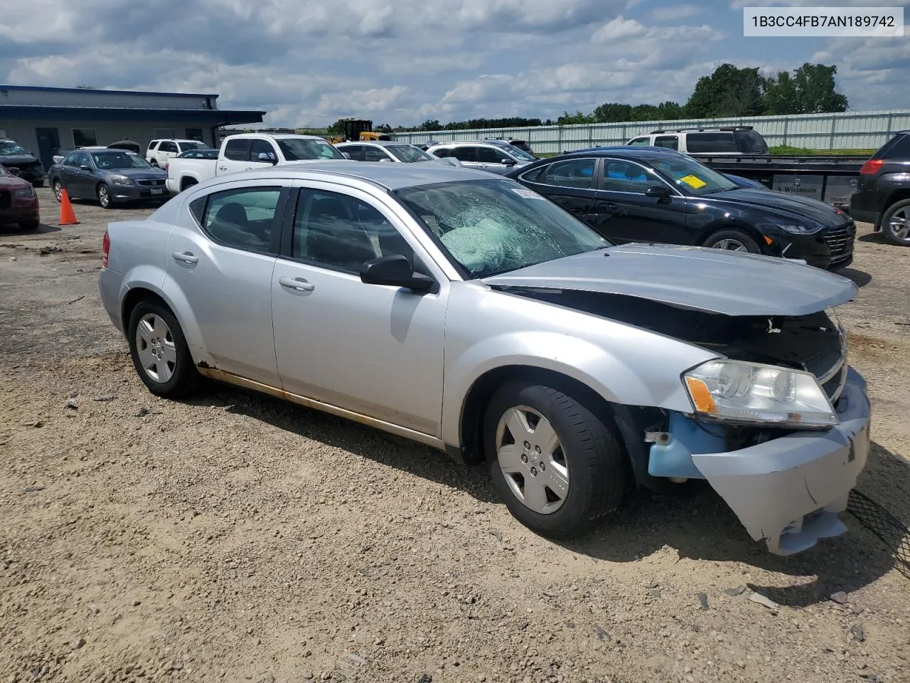
[(744, 5), (910, 0), (6, 0), (0, 83), (217, 93), (276, 127), (416, 126), (684, 102), (724, 62), (808, 61), (837, 66), (851, 109), (910, 107), (910, 30), (746, 38)]

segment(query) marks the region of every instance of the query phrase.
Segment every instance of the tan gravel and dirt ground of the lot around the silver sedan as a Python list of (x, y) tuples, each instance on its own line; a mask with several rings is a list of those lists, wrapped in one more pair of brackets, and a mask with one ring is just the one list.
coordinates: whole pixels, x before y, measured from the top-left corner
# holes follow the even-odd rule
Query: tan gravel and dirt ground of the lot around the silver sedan
[[(106, 221), (147, 212), (0, 233), (0, 683), (910, 681), (900, 539), (851, 515), (781, 558), (710, 491), (638, 494), (556, 545), (419, 445), (230, 388), (157, 400), (96, 293)], [(907, 523), (910, 250), (864, 228), (859, 489)]]

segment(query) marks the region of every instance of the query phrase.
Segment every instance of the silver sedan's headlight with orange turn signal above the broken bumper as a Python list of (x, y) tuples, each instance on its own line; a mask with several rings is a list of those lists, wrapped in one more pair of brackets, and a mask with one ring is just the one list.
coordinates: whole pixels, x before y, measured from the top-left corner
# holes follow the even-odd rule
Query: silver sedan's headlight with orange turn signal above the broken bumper
[(781, 427), (830, 427), (837, 415), (811, 372), (743, 361), (709, 361), (682, 376), (695, 413)]

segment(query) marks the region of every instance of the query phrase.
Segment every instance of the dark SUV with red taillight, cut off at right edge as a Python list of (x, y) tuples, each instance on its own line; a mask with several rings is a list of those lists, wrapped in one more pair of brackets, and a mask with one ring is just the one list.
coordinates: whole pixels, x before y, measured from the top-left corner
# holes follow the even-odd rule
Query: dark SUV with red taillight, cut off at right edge
[(885, 240), (910, 247), (910, 130), (901, 130), (859, 171), (850, 215), (881, 230)]

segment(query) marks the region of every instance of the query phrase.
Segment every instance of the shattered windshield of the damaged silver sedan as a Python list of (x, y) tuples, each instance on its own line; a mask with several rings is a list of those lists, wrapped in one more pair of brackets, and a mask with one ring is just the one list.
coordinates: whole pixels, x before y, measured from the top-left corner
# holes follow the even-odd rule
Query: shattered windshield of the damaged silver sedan
[(610, 246), (552, 202), (508, 180), (446, 183), (398, 195), (475, 278)]

